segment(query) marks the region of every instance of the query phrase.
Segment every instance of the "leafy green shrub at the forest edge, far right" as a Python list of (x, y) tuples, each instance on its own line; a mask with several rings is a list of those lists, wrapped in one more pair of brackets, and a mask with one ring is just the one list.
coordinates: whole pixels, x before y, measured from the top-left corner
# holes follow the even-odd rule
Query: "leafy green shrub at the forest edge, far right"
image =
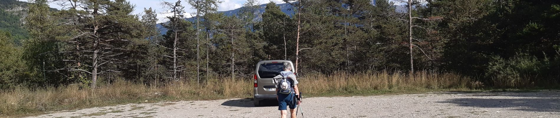
[(544, 57), (538, 59), (524, 53), (510, 59), (494, 56), (486, 69), (486, 77), (498, 88), (555, 88), (560, 73), (560, 54), (553, 59)]

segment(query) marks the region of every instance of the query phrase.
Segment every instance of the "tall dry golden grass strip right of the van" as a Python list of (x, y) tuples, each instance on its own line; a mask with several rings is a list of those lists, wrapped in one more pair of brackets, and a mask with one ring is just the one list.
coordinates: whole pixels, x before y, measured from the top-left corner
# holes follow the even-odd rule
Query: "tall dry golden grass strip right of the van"
[(478, 81), (456, 73), (422, 71), (408, 73), (336, 73), (298, 79), (302, 93), (311, 96), (371, 95), (371, 93), (468, 90), (482, 86)]

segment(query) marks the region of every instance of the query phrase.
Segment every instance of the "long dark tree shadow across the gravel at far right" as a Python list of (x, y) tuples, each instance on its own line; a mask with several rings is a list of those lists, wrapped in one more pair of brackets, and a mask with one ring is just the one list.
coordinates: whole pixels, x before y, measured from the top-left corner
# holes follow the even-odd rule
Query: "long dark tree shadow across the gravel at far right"
[[(438, 103), (454, 103), (465, 107), (512, 108), (519, 111), (560, 112), (558, 92), (484, 92), (463, 93), (475, 98), (454, 98)], [(492, 96), (508, 96), (516, 98), (495, 98)], [(480, 98), (487, 97), (487, 98)], [(521, 97), (521, 98), (519, 98)]]

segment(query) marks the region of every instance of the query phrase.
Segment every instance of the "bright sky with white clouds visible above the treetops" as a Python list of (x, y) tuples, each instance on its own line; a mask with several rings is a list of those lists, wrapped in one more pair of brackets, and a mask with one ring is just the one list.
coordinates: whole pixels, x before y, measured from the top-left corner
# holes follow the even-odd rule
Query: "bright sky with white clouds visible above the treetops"
[[(18, 1), (29, 1), (29, 0), (18, 0)], [(164, 13), (166, 12), (162, 6), (160, 5), (160, 3), (162, 1), (166, 1), (166, 2), (176, 2), (177, 0), (128, 0), (130, 1), (130, 3), (132, 4), (136, 4), (136, 8), (134, 8), (134, 13), (137, 15), (142, 15), (142, 12), (144, 10), (144, 8), (150, 8), (152, 7), (152, 9), (156, 10), (156, 12), (158, 12), (157, 17), (160, 19), (160, 21), (158, 22), (166, 22), (165, 17), (169, 16), (170, 13)], [(191, 17), (191, 13), (194, 13), (194, 10), (192, 10), (192, 6), (190, 6), (188, 3), (183, 1), (183, 6), (185, 6), (185, 16), (186, 17)], [(235, 10), (236, 8), (240, 8), (241, 6), (243, 6), (243, 3), (246, 2), (246, 0), (220, 0), (222, 3), (219, 4), (219, 10), (218, 11), (228, 11), (228, 10)], [(283, 3), (282, 0), (257, 0), (259, 2), (259, 4), (265, 4), (265, 3), (269, 3), (270, 1), (272, 2), (276, 2), (276, 3)], [(396, 0), (393, 0), (396, 1)], [(55, 3), (49, 3), (50, 7), (52, 8), (57, 8), (60, 9), (61, 7), (56, 5)]]

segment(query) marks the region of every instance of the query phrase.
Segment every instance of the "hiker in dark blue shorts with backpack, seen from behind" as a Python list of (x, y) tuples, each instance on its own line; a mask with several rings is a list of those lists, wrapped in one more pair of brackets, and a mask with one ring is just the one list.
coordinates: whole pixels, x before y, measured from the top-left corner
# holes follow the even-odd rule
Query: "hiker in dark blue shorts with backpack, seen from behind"
[[(280, 72), (274, 78), (286, 78), (286, 82), (278, 81), (278, 87), (276, 89), (276, 99), (278, 100), (278, 110), (280, 110), (281, 118), (287, 117), (286, 107), (290, 106), (290, 113), (292, 118), (296, 118), (296, 106), (300, 105), (301, 101), (298, 101), (301, 97), (298, 93), (300, 90), (297, 88), (296, 75), (292, 73), (292, 65), (290, 63), (284, 63), (284, 71)], [(282, 85), (283, 84), (283, 85)], [(290, 87), (287, 87), (290, 86)], [(283, 89), (288, 88), (288, 89)]]

